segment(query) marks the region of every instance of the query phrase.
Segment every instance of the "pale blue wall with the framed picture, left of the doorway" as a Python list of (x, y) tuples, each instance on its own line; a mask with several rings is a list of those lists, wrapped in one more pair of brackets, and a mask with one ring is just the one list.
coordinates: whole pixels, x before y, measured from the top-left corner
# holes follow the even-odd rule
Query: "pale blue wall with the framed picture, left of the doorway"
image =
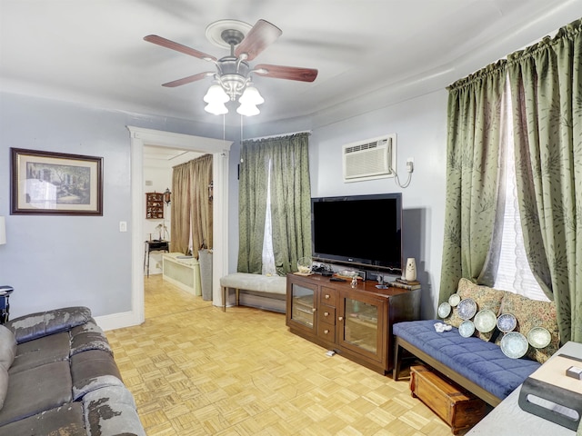
[[(85, 305), (94, 316), (132, 310), (130, 136), (126, 125), (222, 139), (221, 126), (0, 93), (0, 284), (11, 318)], [(10, 214), (10, 148), (104, 158), (103, 216)], [(164, 185), (164, 189), (166, 186)], [(119, 222), (128, 232), (119, 232)], [(145, 239), (144, 239), (145, 241)]]

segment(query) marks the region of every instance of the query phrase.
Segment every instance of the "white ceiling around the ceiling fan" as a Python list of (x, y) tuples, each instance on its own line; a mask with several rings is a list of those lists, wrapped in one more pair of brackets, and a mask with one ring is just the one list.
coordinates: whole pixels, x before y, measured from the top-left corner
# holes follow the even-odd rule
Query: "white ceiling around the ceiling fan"
[(143, 37), (222, 57), (206, 25), (262, 18), (283, 35), (251, 65), (319, 75), (255, 74), (266, 103), (249, 122), (316, 116), (442, 89), (581, 13), (582, 0), (0, 0), (0, 91), (222, 124), (203, 110), (211, 79), (161, 86), (213, 65)]

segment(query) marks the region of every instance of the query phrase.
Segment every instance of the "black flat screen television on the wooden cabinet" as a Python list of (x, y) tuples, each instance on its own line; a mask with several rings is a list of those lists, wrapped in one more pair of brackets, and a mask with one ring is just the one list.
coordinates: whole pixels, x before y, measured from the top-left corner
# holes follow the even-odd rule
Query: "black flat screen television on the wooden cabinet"
[(402, 272), (402, 193), (311, 199), (313, 258)]

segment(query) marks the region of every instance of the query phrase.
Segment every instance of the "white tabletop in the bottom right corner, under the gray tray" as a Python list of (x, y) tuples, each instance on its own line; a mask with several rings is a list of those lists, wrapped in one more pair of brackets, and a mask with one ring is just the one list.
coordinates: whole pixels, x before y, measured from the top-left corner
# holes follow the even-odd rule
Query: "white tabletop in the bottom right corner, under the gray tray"
[[(559, 353), (582, 358), (582, 343), (567, 342), (556, 354)], [(572, 382), (582, 386), (582, 381), (572, 379)], [(522, 410), (517, 403), (520, 390), (521, 385), (468, 431), (467, 436), (576, 436), (576, 431)]]

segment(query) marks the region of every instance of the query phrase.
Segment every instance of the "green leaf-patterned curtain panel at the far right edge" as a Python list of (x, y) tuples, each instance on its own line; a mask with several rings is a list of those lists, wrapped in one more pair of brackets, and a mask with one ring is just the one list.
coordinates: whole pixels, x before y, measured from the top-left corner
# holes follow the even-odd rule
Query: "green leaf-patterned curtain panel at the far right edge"
[(562, 342), (582, 342), (582, 20), (508, 56), (517, 197)]

